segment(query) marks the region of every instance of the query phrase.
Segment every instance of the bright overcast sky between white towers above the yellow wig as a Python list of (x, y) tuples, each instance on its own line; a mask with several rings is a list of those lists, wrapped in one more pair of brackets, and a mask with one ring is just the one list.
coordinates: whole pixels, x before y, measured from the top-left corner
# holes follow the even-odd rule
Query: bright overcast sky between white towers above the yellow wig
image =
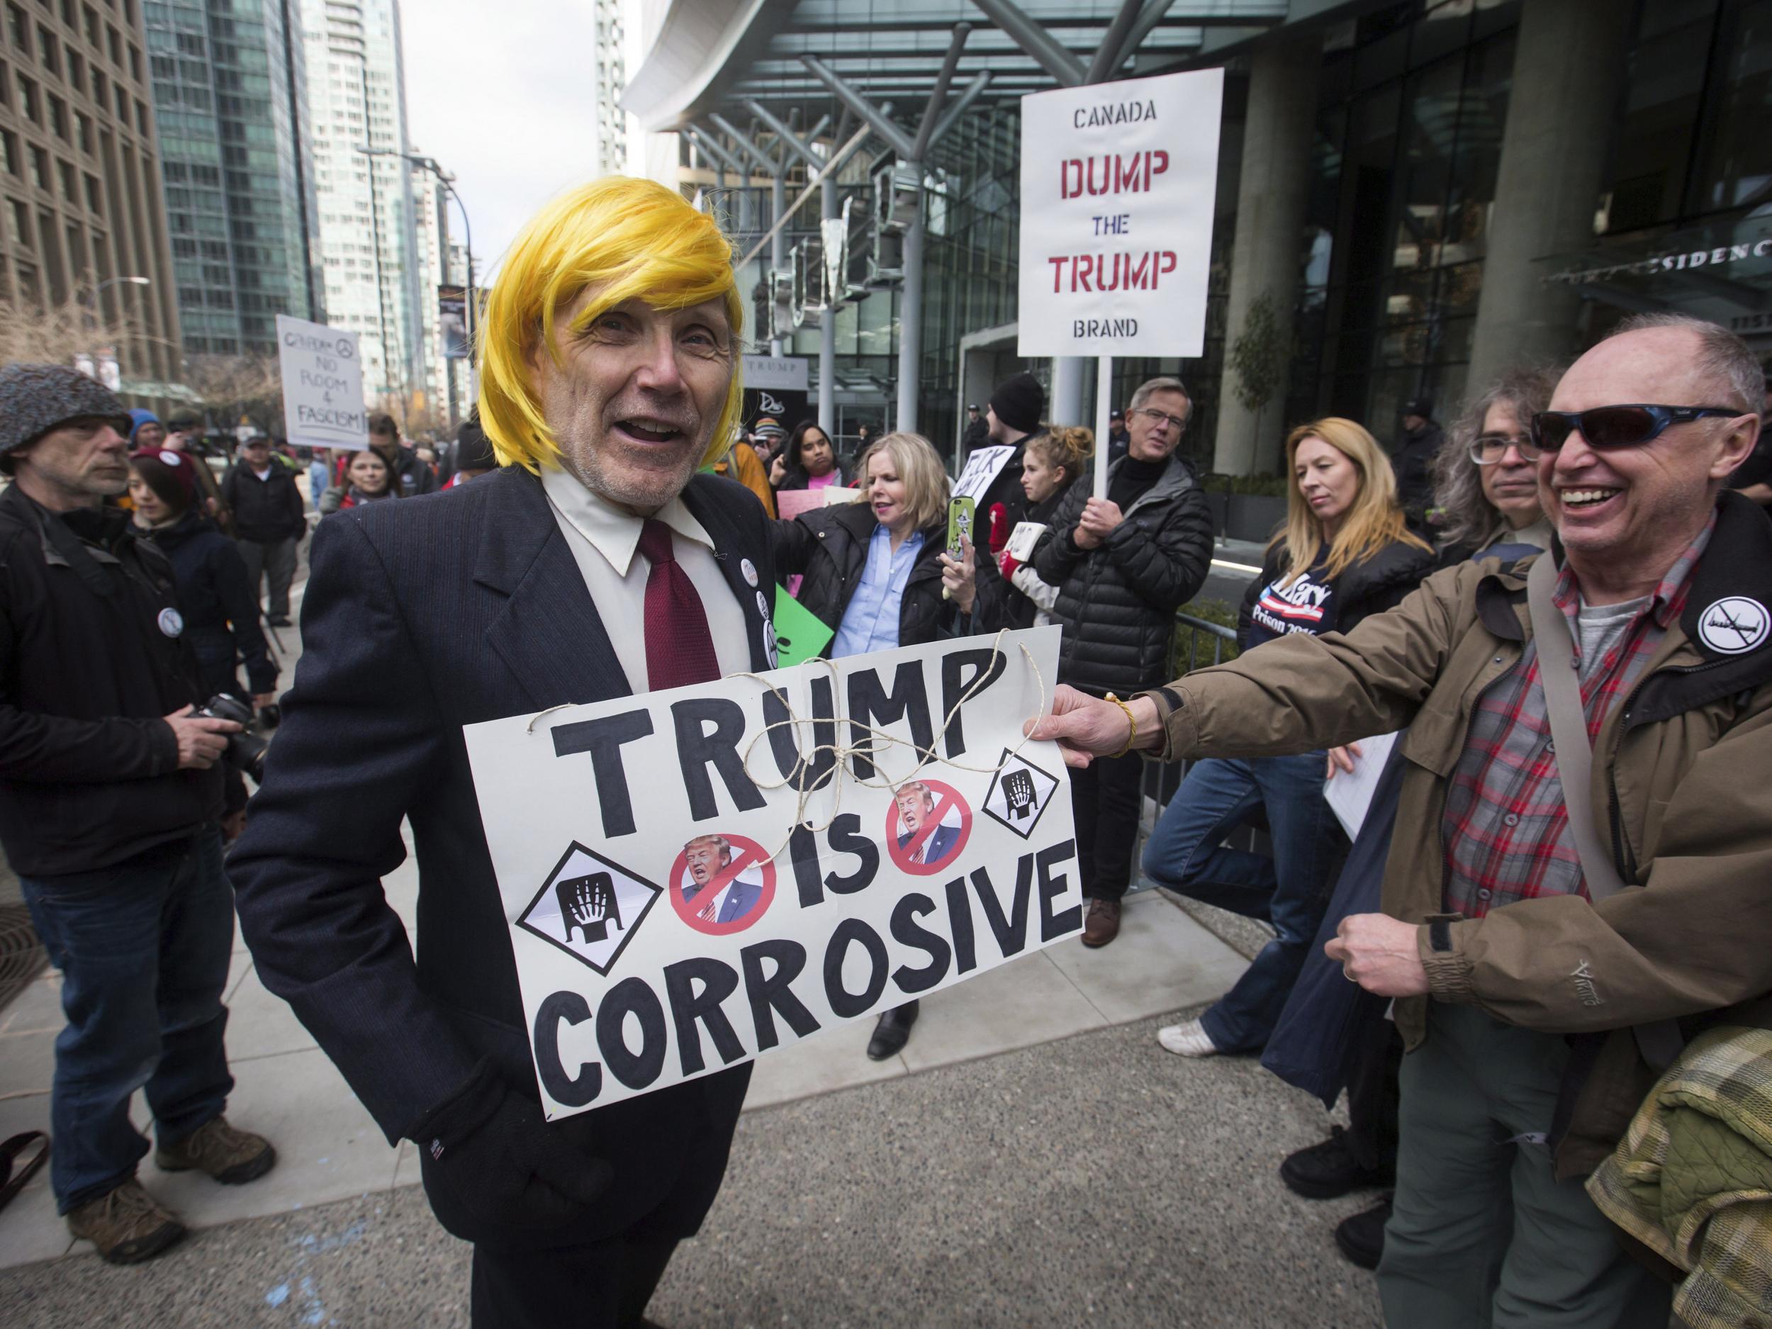
[(406, 0), (400, 25), (408, 136), (455, 174), (484, 282), (540, 204), (594, 174), (592, 5)]

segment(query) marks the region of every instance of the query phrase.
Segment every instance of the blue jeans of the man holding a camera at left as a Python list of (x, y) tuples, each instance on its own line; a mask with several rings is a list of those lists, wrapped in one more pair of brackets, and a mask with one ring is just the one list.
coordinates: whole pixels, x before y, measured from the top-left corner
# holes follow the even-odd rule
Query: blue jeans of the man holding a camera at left
[(129, 1120), (136, 1090), (147, 1090), (161, 1145), (227, 1106), (222, 991), (234, 888), (216, 826), (110, 868), (19, 884), (62, 971), (50, 1185), (66, 1214), (129, 1180), (147, 1154)]

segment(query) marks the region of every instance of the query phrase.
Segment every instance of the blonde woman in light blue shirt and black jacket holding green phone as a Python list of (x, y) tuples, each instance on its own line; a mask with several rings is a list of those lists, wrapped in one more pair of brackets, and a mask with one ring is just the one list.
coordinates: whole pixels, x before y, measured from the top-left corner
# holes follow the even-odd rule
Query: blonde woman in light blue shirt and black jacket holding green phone
[[(920, 434), (886, 434), (861, 454), (865, 498), (774, 523), (776, 574), (804, 574), (799, 602), (824, 620), (831, 659), (914, 647), (969, 631), (973, 551), (950, 558), (948, 473)], [(943, 590), (948, 594), (943, 595)], [(881, 1015), (868, 1056), (911, 1040), (918, 1003)]]

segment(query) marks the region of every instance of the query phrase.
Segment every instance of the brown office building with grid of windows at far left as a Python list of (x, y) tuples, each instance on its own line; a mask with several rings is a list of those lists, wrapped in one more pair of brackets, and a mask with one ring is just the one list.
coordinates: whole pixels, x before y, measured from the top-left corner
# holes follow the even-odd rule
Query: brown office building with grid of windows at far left
[(138, 0), (0, 0), (0, 299), (128, 324), (135, 399), (179, 381)]

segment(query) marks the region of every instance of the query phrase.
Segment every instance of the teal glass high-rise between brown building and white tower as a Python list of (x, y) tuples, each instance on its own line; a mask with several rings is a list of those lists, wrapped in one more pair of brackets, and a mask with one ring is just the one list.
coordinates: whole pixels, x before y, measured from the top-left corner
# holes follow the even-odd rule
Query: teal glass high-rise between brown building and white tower
[(142, 9), (184, 347), (275, 354), (278, 314), (324, 323), (298, 0)]

